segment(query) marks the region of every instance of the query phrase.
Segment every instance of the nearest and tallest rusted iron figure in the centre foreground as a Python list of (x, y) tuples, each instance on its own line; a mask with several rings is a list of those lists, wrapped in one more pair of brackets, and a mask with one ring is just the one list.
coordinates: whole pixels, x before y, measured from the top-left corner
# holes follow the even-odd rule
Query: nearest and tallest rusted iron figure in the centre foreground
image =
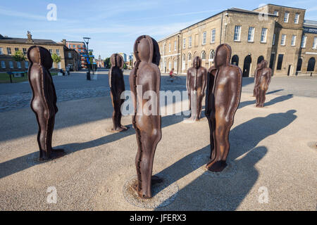
[[(151, 184), (161, 180), (152, 176), (154, 153), (161, 140), (161, 115), (159, 91), (161, 86), (161, 59), (159, 45), (147, 35), (137, 38), (134, 45), (135, 68), (130, 72), (130, 89), (134, 94), (135, 113), (132, 124), (137, 135), (137, 185), (135, 190), (141, 198), (151, 198)], [(140, 90), (141, 89), (141, 90)], [(148, 100), (149, 98), (149, 100)], [(147, 108), (147, 101), (151, 106)]]

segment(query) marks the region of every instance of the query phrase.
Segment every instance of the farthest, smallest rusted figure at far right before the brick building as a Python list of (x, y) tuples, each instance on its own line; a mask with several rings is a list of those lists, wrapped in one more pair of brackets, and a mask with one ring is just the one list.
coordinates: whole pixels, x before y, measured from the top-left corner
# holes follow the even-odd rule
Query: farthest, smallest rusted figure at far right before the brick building
[(272, 77), (272, 70), (268, 68), (268, 61), (262, 60), (260, 71), (258, 85), (256, 86), (256, 107), (261, 108), (266, 101), (266, 91), (268, 91), (268, 85)]

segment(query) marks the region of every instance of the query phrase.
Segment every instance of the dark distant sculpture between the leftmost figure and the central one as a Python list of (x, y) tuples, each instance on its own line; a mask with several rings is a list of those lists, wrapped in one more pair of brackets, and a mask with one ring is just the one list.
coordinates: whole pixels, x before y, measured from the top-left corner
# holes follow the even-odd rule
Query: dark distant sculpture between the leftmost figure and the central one
[(119, 54), (113, 54), (110, 57), (111, 68), (108, 73), (109, 85), (110, 85), (110, 96), (113, 105), (113, 131), (126, 131), (128, 128), (121, 124), (121, 105), (124, 99), (120, 96), (125, 91), (125, 82), (123, 79), (122, 68), (124, 65), (123, 57)]

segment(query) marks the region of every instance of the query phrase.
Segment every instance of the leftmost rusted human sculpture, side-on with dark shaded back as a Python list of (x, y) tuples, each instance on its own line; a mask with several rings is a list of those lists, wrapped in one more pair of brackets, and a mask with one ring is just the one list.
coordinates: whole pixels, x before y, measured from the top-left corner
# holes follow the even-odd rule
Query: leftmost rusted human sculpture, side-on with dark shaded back
[(41, 46), (31, 46), (27, 51), (30, 61), (27, 72), (32, 89), (31, 108), (37, 117), (39, 131), (39, 160), (52, 160), (65, 155), (63, 149), (53, 149), (51, 139), (54, 131), (56, 106), (56, 91), (49, 69), (53, 64), (51, 53)]

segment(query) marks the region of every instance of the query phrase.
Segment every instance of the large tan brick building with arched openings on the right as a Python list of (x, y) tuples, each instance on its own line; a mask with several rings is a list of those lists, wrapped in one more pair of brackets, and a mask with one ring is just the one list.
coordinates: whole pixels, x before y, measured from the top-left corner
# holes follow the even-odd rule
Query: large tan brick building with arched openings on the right
[(227, 43), (232, 48), (231, 63), (242, 69), (244, 77), (253, 76), (262, 59), (268, 60), (274, 75), (317, 72), (317, 23), (305, 21), (305, 11), (273, 4), (254, 11), (229, 8), (161, 39), (160, 70), (174, 68), (185, 74), (195, 56), (209, 68), (216, 47)]

